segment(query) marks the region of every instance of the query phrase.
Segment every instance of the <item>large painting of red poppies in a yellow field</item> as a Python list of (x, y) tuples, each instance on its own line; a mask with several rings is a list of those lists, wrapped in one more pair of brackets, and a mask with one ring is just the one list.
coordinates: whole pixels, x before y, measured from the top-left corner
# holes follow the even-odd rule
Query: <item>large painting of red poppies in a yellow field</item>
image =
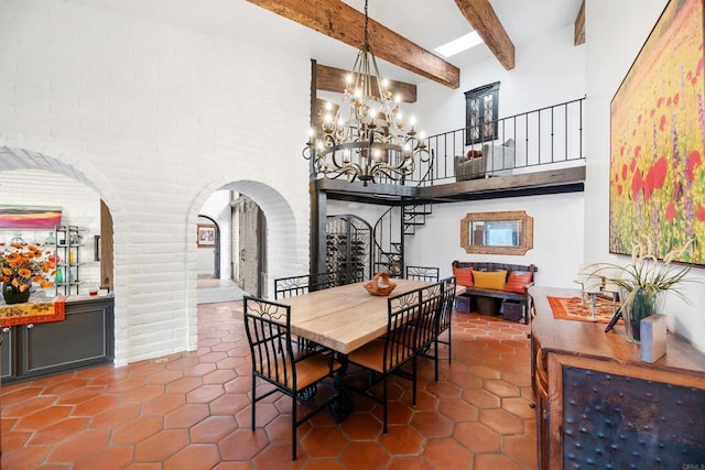
[(703, 0), (671, 0), (610, 103), (609, 251), (705, 264)]

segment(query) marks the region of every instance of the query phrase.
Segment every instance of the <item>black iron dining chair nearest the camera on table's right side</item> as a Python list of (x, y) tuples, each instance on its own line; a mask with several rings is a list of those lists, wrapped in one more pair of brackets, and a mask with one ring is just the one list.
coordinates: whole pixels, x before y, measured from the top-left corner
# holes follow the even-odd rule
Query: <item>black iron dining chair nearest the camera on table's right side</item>
[[(387, 334), (348, 354), (348, 363), (362, 368), (370, 372), (367, 387), (350, 390), (364, 394), (382, 405), (383, 434), (387, 434), (388, 416), (388, 378), (392, 373), (409, 379), (413, 385), (412, 404), (416, 405), (416, 356), (414, 354), (414, 328), (405, 328), (419, 318), (421, 303), (419, 289), (399, 294), (387, 299)], [(412, 362), (412, 372), (402, 371), (400, 368)], [(372, 381), (372, 373), (377, 380)], [(382, 382), (382, 398), (375, 396), (371, 389)]]

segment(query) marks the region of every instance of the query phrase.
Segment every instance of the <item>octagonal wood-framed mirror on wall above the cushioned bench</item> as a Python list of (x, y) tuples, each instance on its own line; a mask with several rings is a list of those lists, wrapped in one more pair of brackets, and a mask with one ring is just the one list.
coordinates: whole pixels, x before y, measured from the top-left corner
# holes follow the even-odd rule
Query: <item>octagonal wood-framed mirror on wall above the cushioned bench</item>
[(467, 214), (460, 247), (467, 253), (524, 254), (533, 248), (533, 217), (523, 210)]

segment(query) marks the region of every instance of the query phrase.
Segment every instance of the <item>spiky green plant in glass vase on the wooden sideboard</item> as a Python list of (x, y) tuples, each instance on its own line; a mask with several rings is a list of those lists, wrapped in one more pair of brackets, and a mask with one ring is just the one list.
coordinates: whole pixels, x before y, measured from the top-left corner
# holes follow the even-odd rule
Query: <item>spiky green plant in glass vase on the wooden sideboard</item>
[(666, 253), (662, 262), (655, 255), (655, 247), (649, 237), (633, 243), (632, 262), (626, 266), (614, 263), (593, 263), (584, 267), (588, 277), (600, 278), (601, 285), (615, 285), (619, 289), (620, 307), (615, 318), (621, 316), (629, 341), (640, 342), (640, 321), (663, 309), (664, 293), (671, 292), (690, 304), (680, 284), (697, 282), (685, 278), (691, 266), (674, 266), (673, 260), (684, 259), (693, 239), (680, 249)]

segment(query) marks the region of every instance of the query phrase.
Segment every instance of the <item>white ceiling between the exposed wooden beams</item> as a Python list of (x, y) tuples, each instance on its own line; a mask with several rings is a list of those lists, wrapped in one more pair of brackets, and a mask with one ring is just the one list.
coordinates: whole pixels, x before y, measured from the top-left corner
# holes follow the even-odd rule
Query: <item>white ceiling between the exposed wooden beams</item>
[[(184, 28), (206, 34), (258, 42), (280, 50), (306, 50), (319, 64), (350, 68), (352, 47), (283, 19), (246, 0), (69, 0), (87, 7), (129, 17)], [(346, 0), (362, 11), (365, 0)], [(575, 22), (581, 0), (490, 0), (497, 17), (514, 43), (521, 45), (534, 37)], [(433, 50), (473, 31), (454, 0), (369, 0), (370, 18), (390, 30)], [(447, 62), (464, 68), (491, 56), (485, 45), (458, 54)], [(382, 74), (412, 84), (426, 78), (380, 61)]]

